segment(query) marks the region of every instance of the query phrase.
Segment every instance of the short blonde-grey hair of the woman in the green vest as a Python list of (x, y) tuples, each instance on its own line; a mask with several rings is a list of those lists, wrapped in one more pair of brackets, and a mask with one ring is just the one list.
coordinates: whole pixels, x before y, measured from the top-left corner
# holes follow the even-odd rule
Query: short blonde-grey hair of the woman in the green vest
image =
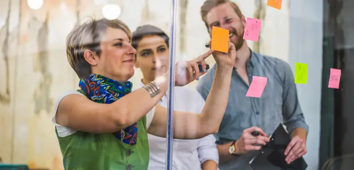
[(72, 29), (66, 38), (67, 58), (72, 69), (80, 79), (87, 78), (91, 73), (91, 65), (85, 60), (85, 50), (96, 52), (100, 57), (100, 44), (107, 28), (116, 28), (123, 30), (131, 41), (131, 32), (121, 20), (109, 20), (106, 18), (94, 19)]

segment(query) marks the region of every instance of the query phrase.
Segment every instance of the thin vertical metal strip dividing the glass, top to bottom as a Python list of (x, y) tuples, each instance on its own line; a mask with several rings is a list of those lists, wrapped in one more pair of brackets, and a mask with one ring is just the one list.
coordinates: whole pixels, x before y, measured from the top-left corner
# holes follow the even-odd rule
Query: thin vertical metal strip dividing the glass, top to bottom
[(171, 0), (170, 20), (170, 71), (167, 91), (167, 133), (166, 133), (166, 170), (172, 170), (172, 147), (173, 147), (173, 112), (174, 112), (174, 90), (175, 90), (175, 56), (176, 56), (176, 14), (177, 0)]

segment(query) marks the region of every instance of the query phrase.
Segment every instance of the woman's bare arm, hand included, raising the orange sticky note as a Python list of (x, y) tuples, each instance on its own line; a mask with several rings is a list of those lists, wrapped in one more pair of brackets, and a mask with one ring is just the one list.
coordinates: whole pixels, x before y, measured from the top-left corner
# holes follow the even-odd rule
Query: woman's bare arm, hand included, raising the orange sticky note
[[(212, 88), (205, 102), (202, 112), (198, 115), (190, 112), (174, 112), (174, 138), (195, 139), (219, 130), (221, 120), (229, 100), (231, 74), (236, 58), (235, 46), (229, 41), (229, 53), (213, 53), (217, 66)], [(188, 96), (186, 96), (188, 97)], [(167, 125), (167, 111), (162, 106), (156, 106), (155, 115), (148, 129), (148, 133), (165, 137)]]

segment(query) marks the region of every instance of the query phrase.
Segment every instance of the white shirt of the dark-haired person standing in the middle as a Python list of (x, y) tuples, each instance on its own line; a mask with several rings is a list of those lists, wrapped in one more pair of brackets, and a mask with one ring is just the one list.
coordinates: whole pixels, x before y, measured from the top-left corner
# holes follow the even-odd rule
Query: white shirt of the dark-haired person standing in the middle
[[(142, 87), (140, 82), (135, 89)], [(159, 105), (167, 108), (167, 96), (164, 95)], [(199, 114), (204, 106), (204, 99), (194, 89), (175, 87), (174, 110)], [(151, 117), (146, 115), (147, 117)], [(166, 169), (166, 138), (148, 135), (150, 161), (148, 170)], [(173, 170), (201, 170), (201, 164), (206, 160), (219, 163), (215, 137), (205, 136), (193, 140), (173, 140)]]

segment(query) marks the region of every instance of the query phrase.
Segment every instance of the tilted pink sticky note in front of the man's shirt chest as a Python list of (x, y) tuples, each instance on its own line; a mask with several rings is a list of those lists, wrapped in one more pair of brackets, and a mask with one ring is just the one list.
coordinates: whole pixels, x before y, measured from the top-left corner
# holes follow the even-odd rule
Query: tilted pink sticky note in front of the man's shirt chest
[(246, 96), (260, 98), (262, 96), (266, 84), (266, 77), (252, 76), (252, 82), (251, 85), (249, 85)]

